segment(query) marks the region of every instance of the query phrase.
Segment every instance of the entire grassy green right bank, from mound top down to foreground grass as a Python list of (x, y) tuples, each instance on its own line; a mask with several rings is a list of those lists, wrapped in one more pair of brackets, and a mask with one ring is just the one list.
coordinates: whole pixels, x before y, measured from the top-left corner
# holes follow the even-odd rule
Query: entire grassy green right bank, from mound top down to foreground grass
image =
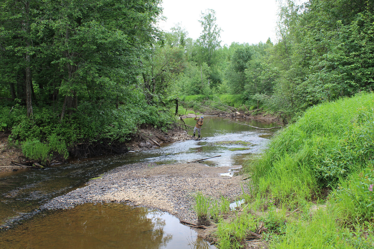
[(373, 248), (373, 161), (373, 93), (310, 108), (246, 165), (247, 221), (221, 221), (219, 248), (243, 248), (236, 231), (253, 222), (246, 234), (262, 222), (267, 248)]

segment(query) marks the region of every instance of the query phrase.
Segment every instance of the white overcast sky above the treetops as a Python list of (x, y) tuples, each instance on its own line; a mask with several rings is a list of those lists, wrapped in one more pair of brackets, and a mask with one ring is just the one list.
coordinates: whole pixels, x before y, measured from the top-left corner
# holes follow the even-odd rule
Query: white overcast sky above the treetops
[(170, 31), (178, 22), (196, 40), (202, 27), (201, 12), (214, 9), (221, 31), (221, 45), (232, 42), (256, 44), (276, 39), (278, 5), (276, 0), (163, 0), (163, 16), (159, 27)]

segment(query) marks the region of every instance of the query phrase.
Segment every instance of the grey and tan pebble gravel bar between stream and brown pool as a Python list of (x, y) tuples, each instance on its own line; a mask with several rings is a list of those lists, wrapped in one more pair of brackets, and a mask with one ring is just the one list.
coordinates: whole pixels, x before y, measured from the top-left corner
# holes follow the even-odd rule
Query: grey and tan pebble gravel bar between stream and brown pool
[[(237, 166), (233, 166), (237, 167)], [(184, 221), (196, 222), (194, 194), (201, 191), (231, 202), (242, 193), (242, 176), (221, 177), (228, 168), (199, 163), (123, 165), (90, 180), (85, 187), (56, 197), (41, 209), (69, 209), (83, 203), (117, 202), (159, 209)]]

